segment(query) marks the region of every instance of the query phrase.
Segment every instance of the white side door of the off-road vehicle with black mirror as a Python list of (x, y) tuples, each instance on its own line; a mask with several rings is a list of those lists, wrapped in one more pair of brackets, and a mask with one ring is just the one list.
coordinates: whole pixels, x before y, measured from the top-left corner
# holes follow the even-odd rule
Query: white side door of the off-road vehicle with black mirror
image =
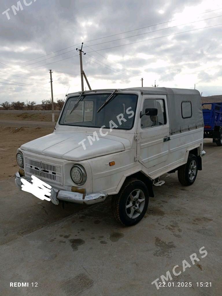
[[(147, 109), (147, 110), (146, 110)], [(144, 115), (157, 109), (157, 115)], [(142, 115), (142, 117), (141, 117)], [(170, 128), (166, 95), (143, 95), (137, 128), (137, 159), (146, 168), (167, 165)], [(149, 170), (149, 171), (153, 171)]]

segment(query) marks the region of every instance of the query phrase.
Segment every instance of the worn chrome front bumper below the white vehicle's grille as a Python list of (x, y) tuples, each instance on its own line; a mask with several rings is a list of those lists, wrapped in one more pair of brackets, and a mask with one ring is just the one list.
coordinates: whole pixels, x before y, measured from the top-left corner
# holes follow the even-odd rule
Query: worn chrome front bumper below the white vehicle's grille
[[(30, 182), (29, 179), (22, 177), (19, 172), (15, 173), (15, 185), (22, 190), (22, 181), (21, 178)], [(98, 192), (98, 193), (79, 193), (79, 192), (71, 192), (65, 190), (59, 190), (52, 188), (50, 199), (52, 203), (55, 205), (59, 204), (59, 200), (64, 200), (67, 202), (75, 202), (85, 205), (93, 205), (98, 202), (103, 202), (107, 197), (107, 193)]]

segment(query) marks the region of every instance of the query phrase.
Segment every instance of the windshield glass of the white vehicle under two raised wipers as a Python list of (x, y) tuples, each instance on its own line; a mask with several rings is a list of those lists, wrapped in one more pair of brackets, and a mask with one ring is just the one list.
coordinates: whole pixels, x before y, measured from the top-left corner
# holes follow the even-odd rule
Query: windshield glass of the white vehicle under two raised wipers
[(79, 96), (68, 98), (59, 123), (70, 126), (131, 129), (134, 124), (138, 96), (114, 94), (109, 103), (97, 113), (110, 94), (83, 94), (82, 101), (72, 112)]

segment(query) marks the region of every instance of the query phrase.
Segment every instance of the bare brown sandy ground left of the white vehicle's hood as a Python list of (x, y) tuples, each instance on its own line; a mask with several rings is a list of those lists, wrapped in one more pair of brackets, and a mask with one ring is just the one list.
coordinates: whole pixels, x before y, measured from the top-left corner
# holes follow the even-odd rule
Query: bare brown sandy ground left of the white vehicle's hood
[(53, 128), (0, 126), (0, 180), (14, 177), (16, 152), (22, 144), (52, 132)]

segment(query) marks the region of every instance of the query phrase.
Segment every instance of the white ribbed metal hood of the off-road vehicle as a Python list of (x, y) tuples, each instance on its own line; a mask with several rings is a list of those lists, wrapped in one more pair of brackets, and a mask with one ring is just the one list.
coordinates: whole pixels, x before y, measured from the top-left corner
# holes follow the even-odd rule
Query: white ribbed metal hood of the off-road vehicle
[[(95, 138), (95, 141), (92, 141), (92, 145), (90, 145), (87, 136), (93, 136), (93, 133), (55, 132), (23, 144), (21, 149), (49, 157), (80, 161), (124, 151), (126, 148), (131, 147), (128, 139), (110, 134), (102, 137), (99, 133), (99, 140)], [(84, 141), (86, 149), (83, 148), (82, 144), (78, 144), (84, 139), (86, 139)]]

